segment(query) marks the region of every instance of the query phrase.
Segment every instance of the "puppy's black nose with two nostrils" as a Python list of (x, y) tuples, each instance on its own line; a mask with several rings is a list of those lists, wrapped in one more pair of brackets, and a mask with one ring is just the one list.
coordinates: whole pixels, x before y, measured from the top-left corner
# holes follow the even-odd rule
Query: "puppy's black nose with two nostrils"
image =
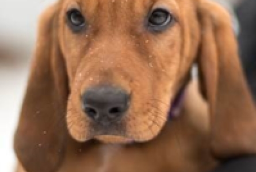
[(88, 89), (82, 96), (83, 111), (95, 122), (108, 125), (120, 120), (129, 106), (123, 89), (101, 86)]

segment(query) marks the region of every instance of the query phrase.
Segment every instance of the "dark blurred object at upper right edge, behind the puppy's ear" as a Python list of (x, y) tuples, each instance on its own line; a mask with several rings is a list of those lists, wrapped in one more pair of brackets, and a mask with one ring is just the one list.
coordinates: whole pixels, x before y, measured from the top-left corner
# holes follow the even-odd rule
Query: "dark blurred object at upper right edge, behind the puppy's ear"
[(240, 22), (240, 56), (256, 101), (256, 1), (243, 1), (236, 7), (236, 13)]

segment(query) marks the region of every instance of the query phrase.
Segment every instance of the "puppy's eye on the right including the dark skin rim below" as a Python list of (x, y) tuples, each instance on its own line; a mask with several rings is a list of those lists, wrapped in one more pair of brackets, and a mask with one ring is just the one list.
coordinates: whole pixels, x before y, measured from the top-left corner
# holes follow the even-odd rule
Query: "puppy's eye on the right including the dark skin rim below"
[(148, 27), (154, 31), (161, 31), (174, 21), (173, 14), (166, 9), (155, 9), (148, 18)]

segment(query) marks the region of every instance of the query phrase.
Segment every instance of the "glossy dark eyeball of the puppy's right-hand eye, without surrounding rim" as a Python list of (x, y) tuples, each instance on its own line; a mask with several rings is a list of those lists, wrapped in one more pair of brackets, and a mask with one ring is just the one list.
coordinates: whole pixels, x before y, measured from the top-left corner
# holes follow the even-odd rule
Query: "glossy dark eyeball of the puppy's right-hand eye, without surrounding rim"
[(158, 9), (153, 11), (149, 22), (151, 25), (164, 25), (170, 20), (170, 14), (166, 10)]

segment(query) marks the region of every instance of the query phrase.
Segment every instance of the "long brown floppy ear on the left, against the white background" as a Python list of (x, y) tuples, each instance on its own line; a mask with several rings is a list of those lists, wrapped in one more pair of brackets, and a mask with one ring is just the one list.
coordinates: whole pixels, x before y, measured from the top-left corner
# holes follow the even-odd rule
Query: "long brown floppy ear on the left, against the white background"
[(28, 172), (55, 171), (64, 156), (67, 77), (58, 44), (58, 5), (40, 18), (39, 36), (14, 148)]

